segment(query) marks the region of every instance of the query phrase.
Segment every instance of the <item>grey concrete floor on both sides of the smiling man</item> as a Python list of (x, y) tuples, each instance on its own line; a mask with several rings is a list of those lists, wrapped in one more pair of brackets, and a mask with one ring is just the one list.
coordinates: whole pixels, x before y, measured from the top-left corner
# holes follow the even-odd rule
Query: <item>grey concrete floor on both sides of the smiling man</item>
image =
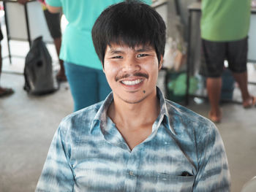
[[(6, 41), (1, 43), (3, 55), (7, 55)], [(26, 43), (11, 44), (12, 54), (26, 55)], [(54, 47), (50, 46), (49, 50), (56, 59)], [(23, 66), (23, 58), (12, 58), (11, 65), (4, 59), (1, 85), (13, 88), (15, 93), (0, 99), (1, 192), (34, 191), (53, 134), (61, 118), (71, 113), (73, 107), (67, 83), (62, 83), (59, 91), (48, 96), (27, 95), (23, 91)], [(256, 77), (253, 70), (249, 74), (252, 76)], [(256, 86), (251, 86), (250, 90), (256, 95)], [(192, 101), (188, 107), (207, 116), (207, 102)], [(244, 110), (239, 104), (222, 104), (222, 110), (224, 117), (217, 127), (227, 151), (232, 192), (238, 192), (256, 175), (256, 108)]]

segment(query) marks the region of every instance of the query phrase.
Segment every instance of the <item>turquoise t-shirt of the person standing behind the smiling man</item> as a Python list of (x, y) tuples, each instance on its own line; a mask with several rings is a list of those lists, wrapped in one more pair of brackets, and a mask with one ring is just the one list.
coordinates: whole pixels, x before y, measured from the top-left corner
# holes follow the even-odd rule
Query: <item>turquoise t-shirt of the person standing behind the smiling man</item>
[[(53, 7), (62, 7), (67, 27), (62, 34), (60, 58), (64, 61), (102, 69), (91, 39), (91, 28), (101, 12), (123, 0), (46, 0)], [(151, 0), (146, 0), (150, 4)]]

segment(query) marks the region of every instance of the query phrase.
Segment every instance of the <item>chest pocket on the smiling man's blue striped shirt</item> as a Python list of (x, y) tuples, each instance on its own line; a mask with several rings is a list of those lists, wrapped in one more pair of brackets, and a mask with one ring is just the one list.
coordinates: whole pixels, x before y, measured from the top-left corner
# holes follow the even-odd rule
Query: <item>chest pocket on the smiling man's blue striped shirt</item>
[(192, 191), (195, 176), (176, 176), (159, 173), (157, 175), (157, 192), (190, 192)]

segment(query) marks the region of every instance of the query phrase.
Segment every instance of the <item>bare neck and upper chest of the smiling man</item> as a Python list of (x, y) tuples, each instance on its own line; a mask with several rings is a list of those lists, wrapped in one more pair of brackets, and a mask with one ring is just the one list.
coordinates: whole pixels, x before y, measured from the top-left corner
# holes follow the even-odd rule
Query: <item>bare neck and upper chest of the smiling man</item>
[(157, 95), (129, 104), (121, 99), (113, 99), (108, 109), (108, 116), (124, 137), (130, 150), (143, 142), (152, 133), (152, 126), (159, 115)]

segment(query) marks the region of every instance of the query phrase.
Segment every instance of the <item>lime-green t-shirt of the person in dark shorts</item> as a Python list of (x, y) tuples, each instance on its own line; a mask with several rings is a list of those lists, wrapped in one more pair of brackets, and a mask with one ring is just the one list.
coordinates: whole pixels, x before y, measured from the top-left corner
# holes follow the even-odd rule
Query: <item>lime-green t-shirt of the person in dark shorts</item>
[(245, 38), (250, 9), (251, 0), (202, 0), (201, 37), (217, 42)]

